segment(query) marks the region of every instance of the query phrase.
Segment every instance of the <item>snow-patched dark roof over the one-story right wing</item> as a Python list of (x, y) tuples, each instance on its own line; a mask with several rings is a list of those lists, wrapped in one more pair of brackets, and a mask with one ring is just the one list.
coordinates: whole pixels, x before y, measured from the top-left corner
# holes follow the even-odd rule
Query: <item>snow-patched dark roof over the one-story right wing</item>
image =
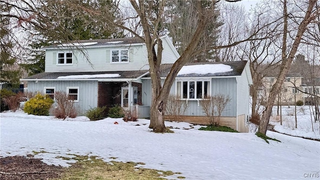
[[(244, 67), (246, 65), (247, 61), (246, 60), (241, 60), (241, 61), (225, 61), (225, 62), (190, 62), (190, 63), (185, 63), (183, 67), (186, 66), (191, 66), (191, 65), (215, 65), (211, 67), (215, 68), (221, 68), (221, 64), (223, 65), (228, 65), (231, 69), (229, 70), (223, 70), (223, 69), (212, 69), (211, 72), (208, 72), (207, 70), (204, 72), (203, 70), (199, 70), (199, 72), (192, 72), (192, 73), (183, 73), (179, 74), (176, 77), (205, 77), (205, 76), (239, 76), (241, 75), (242, 71), (244, 70)], [(169, 73), (171, 67), (173, 64), (161, 64), (160, 65), (160, 76), (161, 77), (166, 77), (167, 74)], [(183, 68), (182, 67), (182, 68)], [(194, 67), (194, 66), (192, 66)], [(192, 68), (191, 67), (191, 68)], [(201, 68), (201, 66), (199, 66)], [(223, 68), (223, 66), (222, 66)], [(144, 77), (150, 77), (149, 74), (145, 75)]]

